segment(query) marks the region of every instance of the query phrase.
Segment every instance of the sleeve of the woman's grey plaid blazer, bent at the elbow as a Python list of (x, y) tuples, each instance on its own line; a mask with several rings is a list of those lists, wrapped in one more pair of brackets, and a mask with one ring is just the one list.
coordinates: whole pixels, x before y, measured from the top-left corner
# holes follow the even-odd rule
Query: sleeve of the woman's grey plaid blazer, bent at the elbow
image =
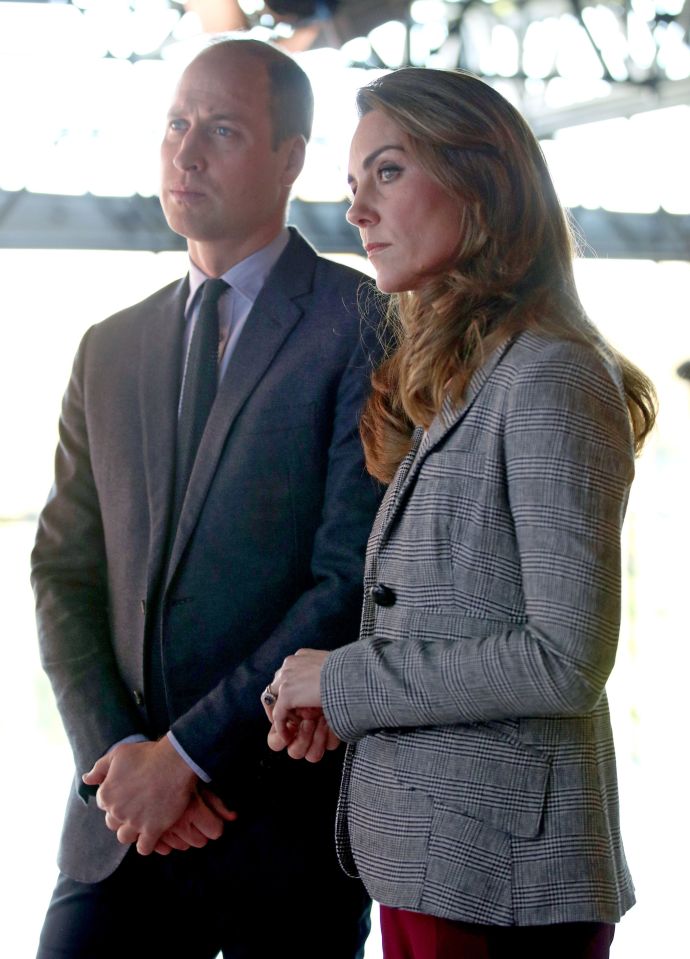
[(525, 621), (415, 609), (399, 640), (374, 630), (332, 653), (322, 700), (346, 741), (386, 727), (577, 715), (601, 697), (618, 641), (633, 476), (622, 391), (592, 349), (553, 342), (506, 395), (502, 470)]

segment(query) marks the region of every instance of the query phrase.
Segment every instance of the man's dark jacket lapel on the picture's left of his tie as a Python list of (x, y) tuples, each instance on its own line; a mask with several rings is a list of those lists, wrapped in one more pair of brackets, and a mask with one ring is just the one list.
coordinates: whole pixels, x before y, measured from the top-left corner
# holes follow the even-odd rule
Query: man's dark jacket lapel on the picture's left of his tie
[(149, 593), (165, 559), (173, 500), (177, 404), (182, 373), (185, 278), (155, 301), (143, 324), (139, 380), (144, 473), (149, 502)]

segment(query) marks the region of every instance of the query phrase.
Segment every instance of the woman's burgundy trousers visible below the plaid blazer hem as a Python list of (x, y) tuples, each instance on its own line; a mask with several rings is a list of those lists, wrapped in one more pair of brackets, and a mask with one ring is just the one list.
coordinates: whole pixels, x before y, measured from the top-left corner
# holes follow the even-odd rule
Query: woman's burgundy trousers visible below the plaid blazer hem
[(384, 959), (608, 959), (615, 926), (483, 926), (381, 906)]

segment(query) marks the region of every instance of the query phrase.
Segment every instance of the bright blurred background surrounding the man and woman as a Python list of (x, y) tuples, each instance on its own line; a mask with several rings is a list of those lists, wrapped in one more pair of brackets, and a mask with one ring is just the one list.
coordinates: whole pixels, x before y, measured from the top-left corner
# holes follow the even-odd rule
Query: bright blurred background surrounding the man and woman
[[(60, 400), (84, 330), (186, 270), (156, 197), (158, 146), (172, 84), (217, 32), (278, 43), (309, 74), (315, 129), (290, 219), (365, 270), (344, 220), (357, 87), (401, 65), (460, 66), (540, 138), (578, 230), (585, 306), (660, 400), (626, 522), (609, 686), (638, 892), (612, 956), (690, 955), (689, 27), (683, 0), (0, 0), (1, 956), (35, 953), (71, 778), (28, 584)], [(367, 959), (380, 955), (375, 923)]]

